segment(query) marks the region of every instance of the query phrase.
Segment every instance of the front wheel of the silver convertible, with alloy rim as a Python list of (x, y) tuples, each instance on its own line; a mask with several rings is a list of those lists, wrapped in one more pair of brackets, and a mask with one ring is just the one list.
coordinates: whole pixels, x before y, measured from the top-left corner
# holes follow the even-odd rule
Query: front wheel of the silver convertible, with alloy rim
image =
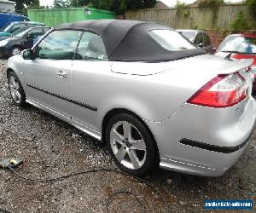
[(8, 73), (9, 93), (16, 106), (24, 107), (26, 104), (26, 95), (20, 83), (20, 79), (15, 72)]

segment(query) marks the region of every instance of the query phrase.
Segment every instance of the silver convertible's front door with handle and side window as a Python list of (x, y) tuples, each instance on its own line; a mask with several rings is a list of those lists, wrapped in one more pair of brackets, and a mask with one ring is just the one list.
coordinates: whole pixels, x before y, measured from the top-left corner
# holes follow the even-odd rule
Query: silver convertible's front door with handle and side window
[(25, 60), (26, 95), (61, 115), (70, 116), (71, 70), (81, 32), (50, 32), (32, 49), (33, 60)]

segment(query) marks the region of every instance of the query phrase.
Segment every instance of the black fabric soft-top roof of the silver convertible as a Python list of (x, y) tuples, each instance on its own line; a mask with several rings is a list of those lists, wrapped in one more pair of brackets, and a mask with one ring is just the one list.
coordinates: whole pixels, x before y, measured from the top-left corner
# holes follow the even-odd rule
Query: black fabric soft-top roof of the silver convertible
[(55, 27), (55, 30), (90, 31), (102, 37), (108, 60), (165, 61), (205, 54), (203, 49), (169, 51), (149, 36), (154, 29), (169, 26), (138, 20), (85, 20)]

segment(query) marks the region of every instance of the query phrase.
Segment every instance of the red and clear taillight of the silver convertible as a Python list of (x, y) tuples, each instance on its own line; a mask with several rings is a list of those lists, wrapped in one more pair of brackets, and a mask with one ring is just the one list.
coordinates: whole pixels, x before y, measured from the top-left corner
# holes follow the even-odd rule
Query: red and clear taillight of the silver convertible
[(245, 79), (236, 72), (230, 75), (218, 75), (213, 78), (187, 102), (206, 107), (231, 107), (246, 96)]

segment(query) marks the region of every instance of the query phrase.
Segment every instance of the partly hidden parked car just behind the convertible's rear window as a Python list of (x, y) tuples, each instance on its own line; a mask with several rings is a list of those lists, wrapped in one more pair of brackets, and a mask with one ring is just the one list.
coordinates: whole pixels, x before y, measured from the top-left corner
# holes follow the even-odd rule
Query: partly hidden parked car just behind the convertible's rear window
[(203, 48), (207, 53), (213, 54), (211, 38), (206, 32), (201, 30), (176, 30), (180, 32), (184, 37), (187, 37), (190, 42), (195, 43), (199, 48)]

